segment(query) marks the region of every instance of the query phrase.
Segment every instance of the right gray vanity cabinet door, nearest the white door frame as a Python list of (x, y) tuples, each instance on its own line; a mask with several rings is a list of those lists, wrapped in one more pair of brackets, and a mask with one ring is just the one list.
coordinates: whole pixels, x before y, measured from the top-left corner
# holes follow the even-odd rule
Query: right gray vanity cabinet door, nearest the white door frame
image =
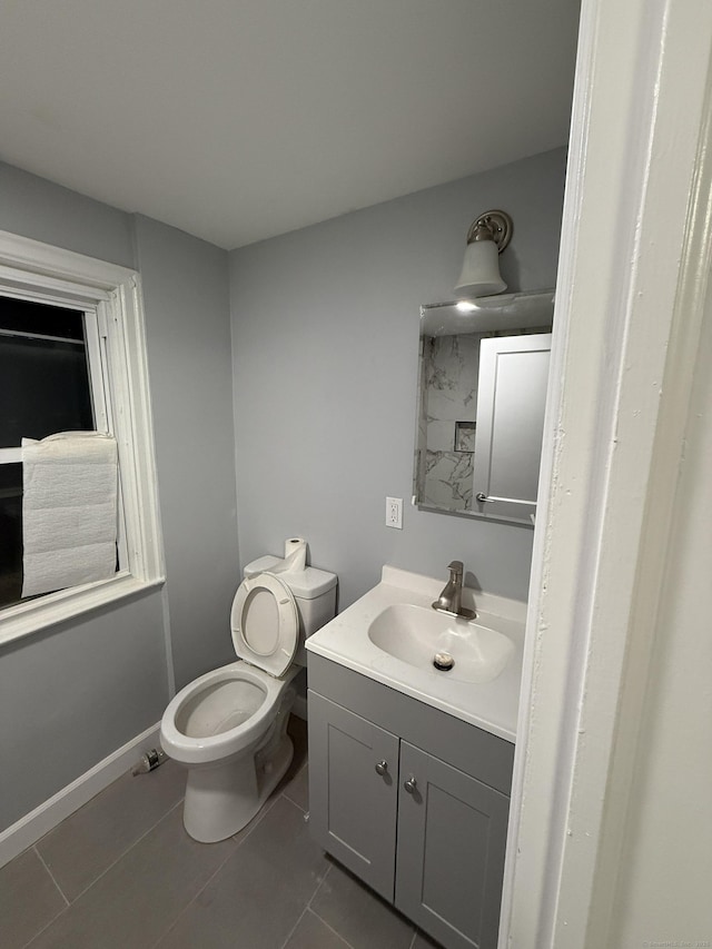
[(505, 794), (400, 742), (395, 904), (448, 949), (497, 945), (508, 809)]

